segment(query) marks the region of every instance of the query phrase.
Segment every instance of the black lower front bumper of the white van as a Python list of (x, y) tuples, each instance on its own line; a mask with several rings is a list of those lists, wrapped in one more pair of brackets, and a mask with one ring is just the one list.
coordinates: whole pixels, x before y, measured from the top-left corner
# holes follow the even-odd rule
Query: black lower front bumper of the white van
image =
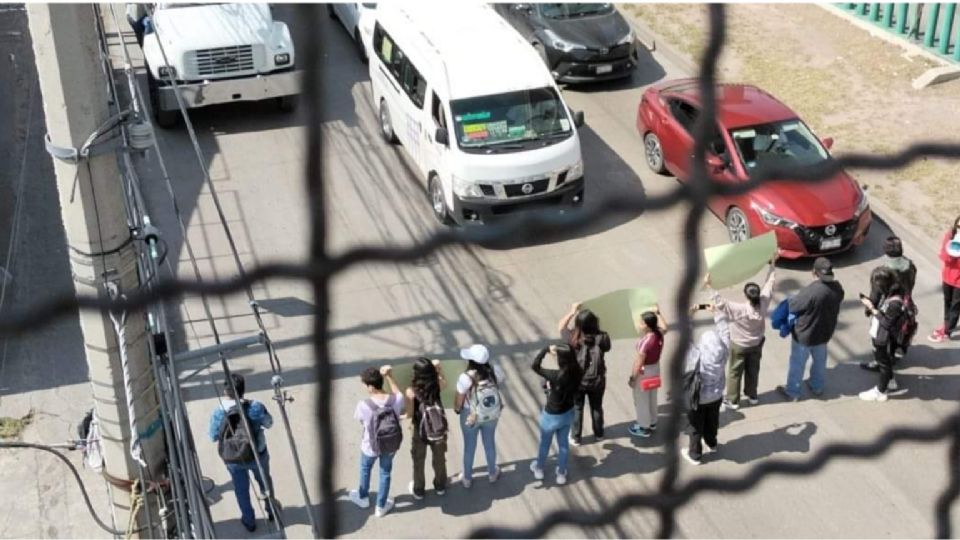
[(583, 203), (584, 177), (565, 182), (559, 188), (531, 197), (515, 199), (461, 199), (453, 196), (451, 217), (458, 225), (482, 225), (498, 218), (527, 210), (550, 210), (559, 213)]

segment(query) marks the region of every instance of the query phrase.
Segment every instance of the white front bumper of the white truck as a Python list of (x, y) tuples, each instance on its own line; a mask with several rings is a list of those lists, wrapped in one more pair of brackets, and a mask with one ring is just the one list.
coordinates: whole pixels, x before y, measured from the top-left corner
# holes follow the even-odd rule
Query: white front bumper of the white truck
[[(234, 101), (260, 101), (275, 97), (300, 93), (303, 71), (288, 70), (266, 73), (252, 77), (219, 79), (201, 82), (178, 82), (177, 88), (184, 104), (189, 109), (219, 105)], [(173, 86), (161, 86), (159, 92), (160, 108), (164, 111), (179, 109)]]

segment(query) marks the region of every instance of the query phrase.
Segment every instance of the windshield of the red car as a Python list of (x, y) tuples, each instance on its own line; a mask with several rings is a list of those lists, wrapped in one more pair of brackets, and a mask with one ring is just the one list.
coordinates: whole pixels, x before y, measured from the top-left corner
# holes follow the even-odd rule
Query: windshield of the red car
[(730, 131), (747, 172), (761, 165), (808, 166), (830, 158), (799, 119)]

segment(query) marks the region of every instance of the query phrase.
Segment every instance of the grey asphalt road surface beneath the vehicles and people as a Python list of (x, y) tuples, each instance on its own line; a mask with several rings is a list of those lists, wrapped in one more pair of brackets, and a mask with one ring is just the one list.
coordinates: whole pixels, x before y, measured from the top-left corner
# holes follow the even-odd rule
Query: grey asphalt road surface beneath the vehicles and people
[[(425, 182), (411, 172), (412, 164), (400, 148), (386, 145), (379, 137), (367, 67), (356, 57), (347, 34), (327, 20), (311, 31), (321, 36), (326, 83), (322, 149), (305, 148), (302, 109), (285, 115), (270, 103), (259, 103), (192, 115), (203, 150), (201, 160), (210, 169), (248, 265), (306, 257), (309, 208), (303, 170), (307, 152), (323, 151), (326, 216), (335, 252), (357, 244), (409, 245), (439, 227), (429, 212)], [(630, 81), (565, 90), (571, 107), (585, 111), (587, 118), (581, 131), (587, 205), (596, 201), (595, 194), (655, 194), (673, 185), (672, 178), (646, 168), (633, 121), (644, 85), (686, 75), (681, 66), (655, 52)], [(203, 275), (235, 275), (185, 130), (161, 131), (159, 137)], [(143, 158), (138, 168), (153, 217), (167, 234), (170, 260), (179, 275), (192, 276), (182, 239), (175, 233), (156, 156)], [(560, 231), (546, 240), (523, 239), (510, 248), (457, 247), (417, 264), (360, 264), (337, 276), (332, 291), (331, 350), (341, 532), (352, 537), (459, 537), (480, 525), (527, 526), (555, 509), (599, 510), (624, 494), (655, 489), (665, 462), (661, 436), (638, 441), (626, 430), (633, 405), (620, 381), (629, 369), (632, 343), (615, 343), (608, 360), (607, 439), (593, 443), (587, 437), (589, 444), (573, 451), (569, 484), (563, 487), (554, 485), (549, 474), (548, 481), (539, 485), (527, 468), (537, 447), (537, 415), (543, 401), (529, 363), (536, 349), (556, 338), (556, 321), (573, 301), (646, 285), (658, 290), (668, 319), (673, 319), (684, 217), (683, 207), (649, 215), (610, 216), (586, 231)], [(725, 241), (721, 224), (712, 217), (704, 219), (699, 230), (707, 245)], [(761, 405), (724, 413), (720, 452), (698, 469), (682, 467), (682, 481), (712, 474), (736, 477), (771, 458), (801, 461), (833, 442), (869, 441), (889, 426), (926, 426), (952, 411), (960, 375), (954, 365), (955, 346), (917, 345), (898, 375), (906, 392), (887, 403), (863, 403), (856, 397), (875, 383), (874, 374), (857, 367), (870, 354), (870, 347), (856, 292), (866, 289), (886, 232), (877, 223), (866, 245), (835, 258), (848, 294), (830, 346), (825, 395), (819, 399), (806, 395), (799, 403), (780, 400), (774, 387), (785, 379), (788, 343), (771, 338), (761, 371)], [(916, 293), (922, 331), (928, 331), (939, 318), (937, 263), (915, 244), (908, 242), (907, 249), (920, 269)], [(781, 265), (776, 300), (810, 279), (808, 265)], [(285, 383), (296, 400), (291, 421), (316, 503), (313, 295), (307, 286), (293, 282), (261, 284), (255, 294), (269, 312), (266, 324), (278, 345)], [(215, 299), (212, 308), (223, 339), (254, 331), (242, 295)], [(178, 329), (175, 350), (212, 341), (196, 299), (185, 302), (181, 315), (183, 327)], [(675, 338), (667, 341), (669, 353), (678, 344)], [(480, 473), (469, 491), (454, 484), (444, 498), (429, 493), (415, 502), (406, 494), (411, 466), (405, 446), (394, 467), (394, 512), (377, 519), (372, 509), (355, 508), (346, 500), (346, 492), (355, 488), (358, 475), (360, 434), (352, 414), (357, 400), (364, 397), (359, 373), (368, 366), (396, 364), (423, 354), (452, 357), (458, 347), (472, 342), (488, 344), (508, 375), (509, 409), (498, 429), (501, 480), (488, 485)], [(246, 351), (233, 355), (231, 363), (247, 375), (248, 393), (268, 401), (270, 372), (265, 354)], [(194, 432), (202, 436), (216, 405), (215, 383), (221, 376), (215, 366), (204, 369), (196, 362), (181, 368), (184, 377), (198, 370), (184, 385)], [(279, 428), (278, 422), (270, 434), (274, 479), (290, 523), (287, 533), (302, 537), (309, 528)], [(200, 441), (198, 446), (204, 472), (216, 483), (211, 497), (221, 535), (245, 535), (227, 485), (229, 477), (214, 445)], [(454, 427), (447, 459), (451, 475), (461, 470), (461, 448)], [(947, 481), (946, 455), (945, 443), (898, 445), (877, 460), (837, 460), (815, 476), (770, 478), (745, 494), (698, 496), (678, 514), (676, 532), (692, 537), (930, 536), (934, 502)], [(476, 465), (482, 466), (482, 457)], [(960, 522), (956, 510), (953, 522)], [(656, 525), (651, 512), (633, 511), (614, 525), (587, 530), (560, 527), (552, 534), (645, 537), (655, 534)]]

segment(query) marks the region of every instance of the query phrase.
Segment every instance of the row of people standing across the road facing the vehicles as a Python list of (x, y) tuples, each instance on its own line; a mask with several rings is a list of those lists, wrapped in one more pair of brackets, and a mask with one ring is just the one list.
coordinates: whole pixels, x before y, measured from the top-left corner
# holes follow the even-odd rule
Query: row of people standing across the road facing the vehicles
[[(898, 388), (894, 365), (906, 354), (916, 332), (917, 312), (912, 294), (917, 268), (904, 256), (902, 242), (896, 236), (886, 239), (884, 253), (883, 263), (871, 273), (870, 294), (860, 295), (865, 314), (870, 318), (869, 334), (873, 345), (873, 359), (861, 363), (861, 366), (878, 372), (876, 386), (859, 395), (866, 401), (886, 401), (888, 392)], [(930, 334), (929, 339), (933, 342), (950, 339), (960, 321), (960, 217), (944, 235), (940, 259), (943, 263), (944, 324)], [(737, 410), (743, 404), (759, 403), (765, 325), (776, 284), (775, 262), (775, 258), (770, 261), (763, 284), (747, 283), (743, 298), (737, 300), (726, 299), (712, 290), (708, 274), (704, 286), (711, 289), (712, 303), (691, 307), (691, 312), (712, 312), (714, 319), (713, 326), (690, 344), (684, 361), (681, 393), (688, 409), (689, 439), (681, 448), (681, 455), (691, 464), (701, 464), (705, 452), (718, 450), (722, 410)], [(786, 383), (777, 386), (777, 391), (788, 401), (799, 400), (803, 375), (811, 358), (806, 386), (816, 396), (824, 392), (827, 344), (836, 330), (844, 300), (844, 289), (837, 281), (829, 259), (820, 257), (814, 261), (813, 277), (811, 283), (782, 301), (771, 314), (774, 328), (780, 330), (782, 337), (790, 336), (791, 340)], [(659, 366), (668, 324), (659, 307), (655, 306), (642, 313), (635, 326), (639, 339), (626, 382), (633, 393), (636, 421), (628, 431), (632, 436), (649, 437), (657, 427), (657, 391), (661, 386)], [(563, 485), (569, 474), (570, 445), (583, 443), (584, 409), (587, 406), (590, 407), (595, 440), (604, 437), (605, 355), (611, 349), (611, 340), (602, 330), (598, 317), (582, 309), (578, 303), (560, 319), (558, 331), (561, 342), (542, 348), (531, 366), (543, 378), (546, 400), (539, 417), (540, 442), (536, 458), (530, 462), (530, 471), (535, 479), (544, 479), (548, 455), (555, 440), (555, 482)], [(457, 374), (453, 409), (458, 415), (464, 448), (459, 482), (469, 489), (474, 481), (474, 458), (480, 441), (486, 459), (487, 480), (495, 483), (500, 478), (496, 429), (503, 410), (500, 386), (505, 381), (505, 373), (491, 363), (490, 352), (483, 345), (462, 349), (460, 356), (467, 364), (464, 371)], [(548, 356), (556, 367), (544, 366)], [(362, 426), (360, 480), (358, 489), (350, 491), (350, 500), (361, 508), (369, 508), (371, 476), (377, 465), (379, 487), (375, 515), (382, 517), (393, 508), (393, 500), (389, 498), (390, 480), (394, 457), (404, 438), (401, 424), (404, 417), (411, 420), (412, 426), (413, 480), (408, 485), (408, 492), (416, 500), (426, 495), (426, 457), (429, 451), (433, 491), (436, 495), (444, 495), (448, 485), (449, 426), (441, 397), (447, 381), (440, 362), (428, 358), (416, 360), (412, 380), (405, 389), (397, 384), (390, 366), (368, 368), (360, 379), (367, 397), (354, 411), (354, 419)], [(385, 383), (389, 385), (389, 391), (384, 389)], [(252, 531), (255, 524), (250, 504), (249, 474), (253, 474), (261, 492), (268, 494), (270, 519), (273, 519), (272, 509), (279, 508), (279, 502), (269, 498), (272, 493), (269, 453), (262, 433), (271, 426), (272, 418), (262, 403), (244, 400), (243, 390), (244, 381), (238, 375), (224, 384), (224, 399), (211, 417), (209, 433), (212, 440), (220, 442), (221, 456), (233, 479), (242, 521)], [(243, 415), (239, 414), (240, 410)], [(252, 435), (252, 440), (246, 440), (246, 443), (244, 437), (237, 435), (244, 418), (249, 428), (246, 433)], [(244, 448), (243, 444), (249, 448)], [(238, 448), (245, 453), (239, 452)], [(252, 457), (254, 453), (256, 458)], [(249, 463), (240, 458), (228, 460), (226, 454), (234, 458), (241, 454), (250, 457)]]

